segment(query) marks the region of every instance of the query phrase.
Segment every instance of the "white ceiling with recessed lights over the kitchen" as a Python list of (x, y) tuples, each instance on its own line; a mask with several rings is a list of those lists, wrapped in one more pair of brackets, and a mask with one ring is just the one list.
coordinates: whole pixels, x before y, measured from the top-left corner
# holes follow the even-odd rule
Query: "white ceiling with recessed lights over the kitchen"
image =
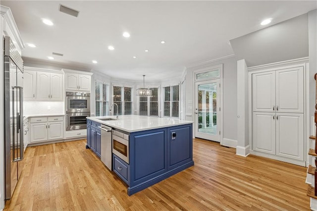
[[(5, 1), (26, 48), (26, 60), (56, 62), (113, 78), (180, 78), (184, 67), (233, 54), (229, 40), (317, 8), (317, 1)], [(59, 12), (59, 4), (79, 10)], [(41, 18), (53, 21), (53, 26)], [(127, 31), (130, 38), (124, 38)], [(166, 41), (161, 44), (160, 41)], [(107, 49), (114, 46), (114, 51)], [(148, 49), (149, 52), (144, 50)], [(47, 56), (52, 52), (64, 56)], [(137, 56), (136, 59), (133, 56)], [(93, 64), (92, 60), (97, 60)]]

